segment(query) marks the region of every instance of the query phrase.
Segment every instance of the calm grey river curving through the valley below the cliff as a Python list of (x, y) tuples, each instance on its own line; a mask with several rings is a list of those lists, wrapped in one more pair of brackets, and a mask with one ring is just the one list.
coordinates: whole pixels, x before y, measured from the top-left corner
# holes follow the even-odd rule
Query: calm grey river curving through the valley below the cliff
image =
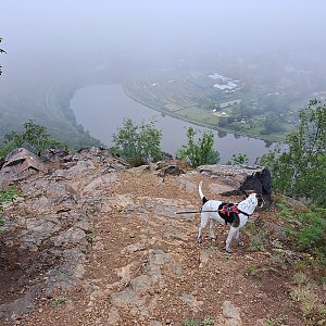
[[(178, 148), (187, 145), (186, 129), (193, 126), (170, 116), (163, 117), (161, 113), (135, 102), (126, 96), (121, 85), (95, 85), (78, 89), (71, 99), (71, 108), (77, 123), (106, 146), (113, 145), (113, 134), (122, 127), (123, 120), (130, 117), (137, 124), (153, 121), (155, 128), (163, 133), (162, 150), (175, 154)], [(195, 127), (198, 130), (205, 129)], [(213, 133), (221, 164), (230, 160), (235, 153), (247, 153), (249, 163), (252, 164), (256, 158), (267, 153), (272, 145), (255, 138), (216, 130)]]

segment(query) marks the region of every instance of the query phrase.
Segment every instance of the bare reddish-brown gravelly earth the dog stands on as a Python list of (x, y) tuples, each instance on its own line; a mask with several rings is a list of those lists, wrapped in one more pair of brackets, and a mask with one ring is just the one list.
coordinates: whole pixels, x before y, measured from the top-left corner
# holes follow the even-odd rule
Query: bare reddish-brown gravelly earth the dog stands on
[[(91, 210), (85, 210), (85, 202), (77, 202), (90, 216), (91, 225), (85, 258), (77, 268), (78, 279), (66, 289), (55, 287), (53, 279), (51, 294), (42, 290), (36, 293), (34, 312), (3, 325), (160, 326), (208, 316), (214, 325), (304, 325), (289, 299), (292, 272), (285, 261), (276, 259), (275, 248), (248, 251), (252, 234), (243, 230), (244, 247), (233, 243), (234, 252), (227, 254), (227, 228), (222, 225), (217, 226), (215, 243), (208, 238), (206, 229), (203, 243), (198, 244), (199, 214), (175, 214), (200, 209), (200, 180), (206, 196), (216, 198), (211, 191), (216, 189), (214, 179), (197, 172), (163, 179), (153, 172), (129, 170), (116, 173), (109, 183), (85, 186), (89, 176), (61, 180), (72, 186), (79, 199), (95, 199), (89, 204)], [(38, 198), (29, 195), (24, 206), (28, 201), (32, 208)], [(20, 204), (15, 206), (18, 209)], [(265, 222), (273, 221), (274, 215), (258, 212), (251, 218)], [(253, 228), (256, 231), (259, 223), (251, 222)], [(23, 229), (5, 234), (7, 246), (1, 244), (1, 264), (5, 264), (0, 271), (1, 304), (30, 288), (28, 280), (22, 281), (25, 266), (49, 249), (49, 242), (43, 241), (38, 248), (28, 248), (28, 254), (15, 250), (15, 233)], [(58, 246), (64, 247), (64, 242)], [(38, 268), (28, 272), (32, 283), (47, 277), (47, 271), (57, 263), (53, 254), (42, 259)], [(29, 300), (33, 302), (33, 298)], [(284, 324), (266, 324), (272, 319)]]

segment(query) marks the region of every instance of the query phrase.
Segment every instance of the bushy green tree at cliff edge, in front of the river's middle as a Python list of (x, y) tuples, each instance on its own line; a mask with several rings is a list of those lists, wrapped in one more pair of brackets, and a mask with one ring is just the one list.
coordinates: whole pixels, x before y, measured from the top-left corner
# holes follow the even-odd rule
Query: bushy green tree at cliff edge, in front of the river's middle
[(113, 152), (117, 153), (133, 166), (139, 166), (162, 159), (162, 131), (153, 122), (135, 125), (131, 118), (124, 120), (123, 127), (113, 135)]

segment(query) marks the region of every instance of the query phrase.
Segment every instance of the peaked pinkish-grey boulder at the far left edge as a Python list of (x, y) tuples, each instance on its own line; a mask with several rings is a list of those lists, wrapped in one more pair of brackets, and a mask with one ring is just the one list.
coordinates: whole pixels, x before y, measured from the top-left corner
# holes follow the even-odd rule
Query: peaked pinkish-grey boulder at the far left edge
[(24, 148), (10, 152), (0, 170), (0, 188), (11, 183), (27, 178), (39, 172), (46, 173), (48, 168), (35, 154)]

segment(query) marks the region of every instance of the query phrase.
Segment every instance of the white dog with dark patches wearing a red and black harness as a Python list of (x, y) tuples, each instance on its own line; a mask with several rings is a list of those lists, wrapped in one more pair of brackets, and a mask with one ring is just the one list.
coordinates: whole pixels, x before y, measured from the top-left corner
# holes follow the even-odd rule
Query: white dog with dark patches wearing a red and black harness
[(259, 201), (261, 201), (260, 206), (263, 205), (262, 196), (253, 192), (238, 204), (225, 203), (218, 200), (208, 200), (202, 192), (202, 181), (199, 184), (199, 196), (202, 200), (203, 206), (200, 214), (201, 221), (198, 231), (198, 242), (202, 242), (202, 229), (206, 226), (210, 220), (210, 237), (213, 241), (216, 239), (214, 228), (216, 221), (218, 221), (221, 224), (230, 225), (226, 239), (226, 251), (231, 252), (230, 242), (234, 237), (236, 237), (238, 246), (242, 247), (243, 243), (240, 240), (240, 229), (247, 224), (248, 217), (252, 215), (259, 204)]

